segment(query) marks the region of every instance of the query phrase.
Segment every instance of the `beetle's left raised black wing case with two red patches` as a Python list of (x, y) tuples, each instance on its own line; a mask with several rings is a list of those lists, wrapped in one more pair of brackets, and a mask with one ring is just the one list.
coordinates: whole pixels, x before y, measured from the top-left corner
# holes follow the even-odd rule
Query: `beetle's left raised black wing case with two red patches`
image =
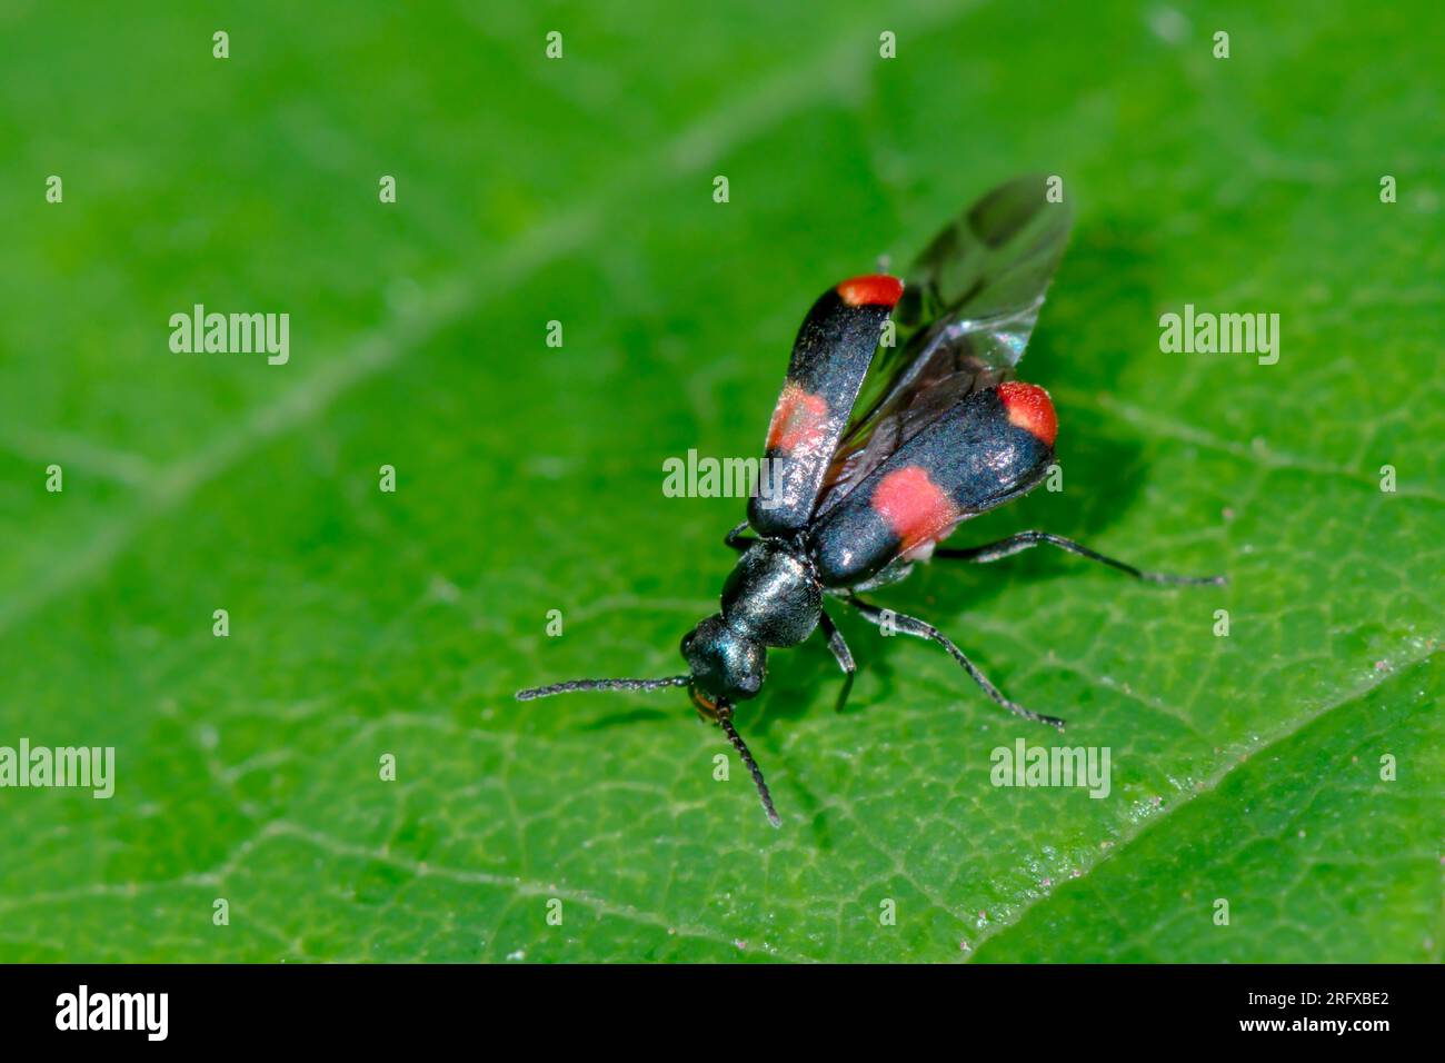
[(803, 318), (767, 428), (759, 492), (747, 505), (762, 535), (789, 535), (812, 516), (902, 291), (893, 276), (857, 276), (824, 292)]

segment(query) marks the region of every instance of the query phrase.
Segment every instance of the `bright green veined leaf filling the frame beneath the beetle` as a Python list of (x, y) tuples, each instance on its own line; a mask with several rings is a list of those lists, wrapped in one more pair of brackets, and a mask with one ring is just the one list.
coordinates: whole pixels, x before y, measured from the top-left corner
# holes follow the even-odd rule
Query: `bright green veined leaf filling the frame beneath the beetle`
[[(0, 960), (1439, 960), (1438, 19), (7, 0), (0, 745), (117, 790), (0, 790)], [(1023, 171), (1078, 218), (1023, 373), (1065, 490), (958, 541), (1233, 586), (879, 594), (1072, 726), (845, 618), (845, 713), (815, 641), (738, 716), (780, 832), (681, 691), (514, 703), (679, 668), (743, 502), (662, 461), (757, 453), (809, 302)], [(172, 354), (195, 302), (289, 364)], [(1279, 364), (1160, 353), (1185, 302)], [(990, 785), (1020, 736), (1110, 746), (1108, 800)]]

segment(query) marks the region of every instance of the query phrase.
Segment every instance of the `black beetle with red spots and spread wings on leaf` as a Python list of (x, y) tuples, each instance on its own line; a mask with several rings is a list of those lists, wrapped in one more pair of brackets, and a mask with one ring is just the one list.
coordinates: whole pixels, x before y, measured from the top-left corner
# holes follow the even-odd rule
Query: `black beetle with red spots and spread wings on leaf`
[[(1071, 217), (1045, 178), (1007, 181), (946, 226), (906, 272), (855, 276), (824, 292), (803, 318), (764, 444), (760, 489), (725, 544), (740, 552), (721, 610), (681, 644), (686, 674), (572, 680), (517, 693), (529, 701), (581, 690), (688, 687), (698, 712), (727, 733), (782, 819), (733, 723), (756, 697), (767, 651), (821, 632), (844, 673), (855, 664), (829, 603), (883, 629), (936, 642), (1009, 712), (1064, 729), (1007, 699), (938, 628), (860, 597), (919, 561), (997, 561), (1046, 544), (1163, 584), (1224, 584), (1222, 576), (1149, 573), (1061, 535), (1025, 531), (944, 548), (964, 521), (1036, 487), (1053, 464), (1058, 417), (1049, 393), (1013, 379), (1068, 243)], [(744, 532), (751, 528), (757, 535)]]

